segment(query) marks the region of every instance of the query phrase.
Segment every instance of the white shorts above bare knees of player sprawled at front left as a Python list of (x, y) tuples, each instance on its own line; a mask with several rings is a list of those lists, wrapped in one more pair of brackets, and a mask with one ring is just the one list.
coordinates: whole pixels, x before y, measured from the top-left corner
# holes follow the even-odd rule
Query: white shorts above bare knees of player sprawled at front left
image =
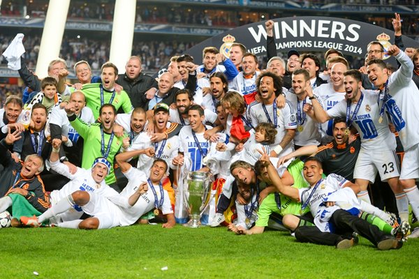
[(110, 229), (111, 227), (119, 226), (119, 218), (117, 217), (117, 211), (120, 210), (119, 207), (101, 195), (91, 192), (87, 193), (89, 193), (90, 200), (82, 206), (82, 209), (90, 216), (98, 218), (98, 229)]

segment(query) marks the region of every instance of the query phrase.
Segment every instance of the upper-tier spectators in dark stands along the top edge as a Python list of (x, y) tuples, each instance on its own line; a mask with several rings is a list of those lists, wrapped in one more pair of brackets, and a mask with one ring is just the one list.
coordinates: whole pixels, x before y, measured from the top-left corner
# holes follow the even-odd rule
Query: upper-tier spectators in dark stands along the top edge
[[(325, 3), (324, 1), (301, 1), (304, 8), (309, 8), (311, 3)], [(305, 3), (307, 2), (307, 3)], [(374, 5), (415, 5), (415, 1), (346, 1), (348, 4), (374, 4)], [(42, 3), (31, 3), (29, 6), (11, 5), (3, 2), (1, 6), (2, 15), (24, 16), (23, 11), (26, 10), (27, 15), (33, 17), (45, 17), (45, 6)], [(100, 20), (112, 21), (114, 12), (114, 3), (85, 3), (84, 1), (71, 1), (68, 10), (68, 18), (74, 20)], [(214, 27), (239, 27), (244, 24), (256, 22), (260, 19), (276, 18), (277, 11), (242, 11), (233, 8), (208, 8), (202, 6), (179, 6), (179, 5), (151, 5), (149, 3), (138, 3), (138, 13), (136, 15), (137, 23), (150, 24), (181, 24), (181, 25), (204, 25)], [(285, 16), (286, 14), (282, 15)], [(288, 16), (304, 15), (294, 11)], [(391, 29), (390, 15), (380, 17), (380, 20), (366, 17), (362, 19), (362, 15), (354, 15), (353, 19), (370, 22), (378, 26)], [(406, 16), (402, 32), (407, 36), (417, 36), (419, 33), (418, 19), (414, 16)]]

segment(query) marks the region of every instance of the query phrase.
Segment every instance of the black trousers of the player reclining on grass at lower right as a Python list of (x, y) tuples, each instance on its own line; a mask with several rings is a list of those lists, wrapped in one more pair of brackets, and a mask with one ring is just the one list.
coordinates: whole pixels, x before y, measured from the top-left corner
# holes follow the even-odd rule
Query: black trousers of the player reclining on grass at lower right
[(338, 209), (332, 214), (330, 222), (335, 225), (335, 233), (321, 232), (318, 227), (297, 227), (295, 238), (301, 242), (311, 242), (328, 246), (336, 246), (343, 239), (351, 239), (352, 233), (356, 232), (365, 237), (375, 246), (385, 238), (385, 234), (378, 227), (366, 220), (353, 216), (348, 211)]

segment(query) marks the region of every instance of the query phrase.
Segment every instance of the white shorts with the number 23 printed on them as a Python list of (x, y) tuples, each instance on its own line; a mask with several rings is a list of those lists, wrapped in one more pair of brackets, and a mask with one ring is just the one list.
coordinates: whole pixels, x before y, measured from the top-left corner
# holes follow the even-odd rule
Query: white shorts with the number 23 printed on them
[(374, 183), (377, 171), (381, 181), (384, 182), (399, 176), (399, 159), (396, 152), (394, 150), (367, 151), (361, 148), (353, 171), (353, 178), (365, 179)]

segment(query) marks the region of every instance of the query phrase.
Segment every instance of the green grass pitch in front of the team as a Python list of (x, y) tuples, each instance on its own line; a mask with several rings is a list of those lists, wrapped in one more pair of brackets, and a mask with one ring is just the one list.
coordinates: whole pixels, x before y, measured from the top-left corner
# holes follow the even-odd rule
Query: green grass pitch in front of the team
[(380, 251), (360, 238), (336, 250), (286, 232), (236, 236), (181, 225), (8, 228), (0, 237), (0, 278), (418, 278), (419, 239)]

